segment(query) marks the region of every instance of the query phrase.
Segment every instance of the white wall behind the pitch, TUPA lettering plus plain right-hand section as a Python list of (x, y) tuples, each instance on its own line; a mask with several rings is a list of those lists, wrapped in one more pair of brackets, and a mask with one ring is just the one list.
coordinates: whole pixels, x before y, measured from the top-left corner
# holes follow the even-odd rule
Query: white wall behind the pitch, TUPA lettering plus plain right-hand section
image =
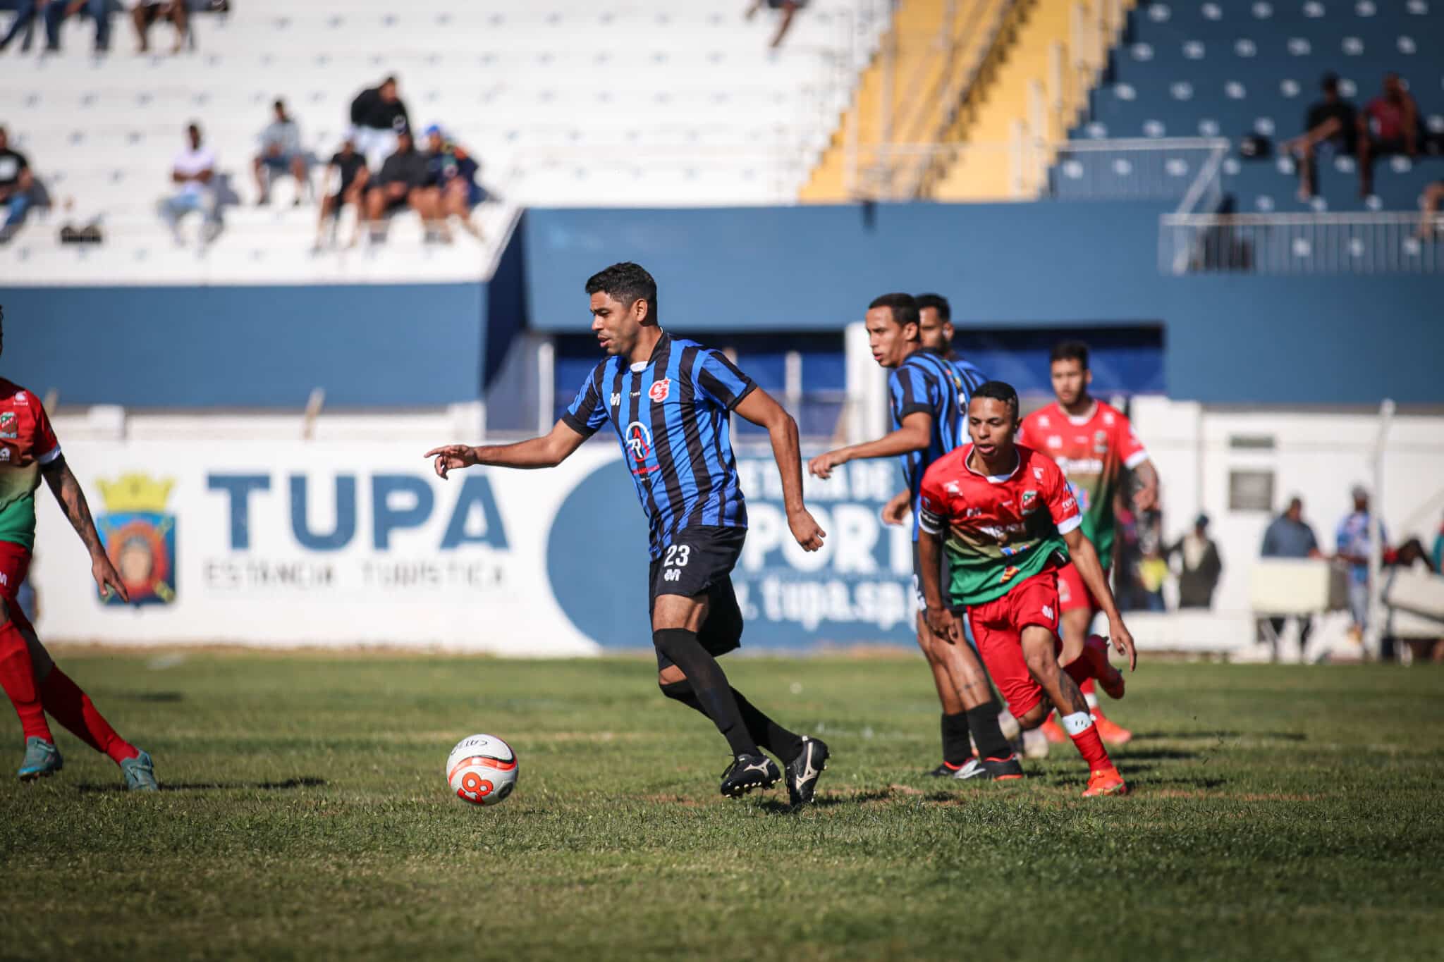
[[(1300, 493), (1326, 550), (1350, 485), (1373, 485), (1378, 417), (1236, 412), (1162, 398), (1134, 405), (1162, 476), (1165, 534), (1201, 508), (1225, 574), (1213, 613), (1131, 616), (1141, 643), (1252, 643), (1249, 573), (1272, 511), (1229, 506), (1232, 470), (1271, 472), (1274, 509)], [(129, 547), (146, 603), (103, 604), (79, 541), (43, 489), (32, 583), (49, 640), (451, 649), (576, 656), (644, 649), (645, 525), (609, 438), (554, 470), (472, 469), (442, 482), (422, 453), (464, 438), (477, 411), (300, 420), (58, 417), (98, 524)], [(1262, 440), (1272, 438), (1272, 447)], [(1238, 438), (1252, 438), (1239, 447)], [(749, 650), (911, 646), (911, 551), (878, 511), (888, 462), (845, 466), (807, 496), (827, 547), (791, 542), (770, 453), (739, 453), (751, 531), (734, 573)], [(1431, 539), (1444, 509), (1444, 417), (1401, 415), (1385, 457), (1395, 539)]]

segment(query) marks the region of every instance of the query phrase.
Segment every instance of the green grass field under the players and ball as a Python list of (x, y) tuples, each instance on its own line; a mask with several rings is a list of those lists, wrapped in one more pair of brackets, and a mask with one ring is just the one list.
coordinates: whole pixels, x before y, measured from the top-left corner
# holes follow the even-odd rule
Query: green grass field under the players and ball
[[(6, 780), (0, 958), (1444, 958), (1437, 669), (1145, 661), (1135, 793), (1087, 800), (1071, 746), (923, 777), (920, 659), (726, 661), (832, 744), (816, 806), (719, 798), (641, 659), (62, 652), (168, 790), (68, 734)], [(498, 808), (442, 773), (478, 730), (521, 760)]]

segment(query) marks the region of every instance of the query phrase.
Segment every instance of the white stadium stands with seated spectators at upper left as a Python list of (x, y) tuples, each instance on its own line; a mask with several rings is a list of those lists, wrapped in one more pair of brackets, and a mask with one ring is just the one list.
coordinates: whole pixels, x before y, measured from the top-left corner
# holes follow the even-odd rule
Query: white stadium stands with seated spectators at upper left
[[(240, 0), (195, 16), (196, 50), (133, 52), (116, 20), (111, 53), (91, 25), (62, 27), (64, 52), (0, 55), (0, 123), (29, 154), (56, 208), (0, 250), (0, 271), (32, 281), (139, 275), (159, 283), (443, 280), (475, 277), (520, 205), (770, 203), (796, 198), (885, 23), (884, 4), (817, 4), (781, 50), (742, 6), (670, 0), (484, 0), (409, 10), (391, 0)], [(153, 29), (155, 49), (169, 27)], [(318, 160), (351, 98), (400, 78), (416, 125), (440, 123), (482, 162), (503, 203), (468, 238), (414, 257), (420, 225), (399, 218), (387, 251), (308, 257), (315, 208), (290, 209), (283, 180), (254, 208), (250, 162), (269, 104), (284, 97)], [(664, 81), (658, 78), (664, 76)], [(202, 255), (176, 251), (155, 213), (183, 125), (198, 120), (234, 190), (227, 231)], [(103, 216), (107, 244), (59, 248), (69, 219)]]

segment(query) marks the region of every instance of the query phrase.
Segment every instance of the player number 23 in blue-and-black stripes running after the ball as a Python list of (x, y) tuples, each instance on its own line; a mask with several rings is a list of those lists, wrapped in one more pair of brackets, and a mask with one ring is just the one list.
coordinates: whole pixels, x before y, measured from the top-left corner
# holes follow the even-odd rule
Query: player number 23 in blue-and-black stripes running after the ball
[(592, 330), (606, 359), (546, 437), (518, 444), (451, 444), (426, 453), (436, 473), (471, 464), (554, 467), (611, 423), (647, 515), (651, 541), (651, 640), (657, 684), (667, 698), (700, 711), (728, 740), (732, 763), (722, 795), (767, 789), (787, 767), (793, 805), (813, 799), (827, 746), (768, 718), (728, 685), (716, 656), (741, 645), (742, 612), (731, 571), (747, 537), (728, 415), (767, 428), (783, 477), (787, 525), (806, 551), (825, 532), (803, 506), (797, 423), (721, 352), (658, 326), (657, 283), (637, 264), (614, 264), (586, 281)]

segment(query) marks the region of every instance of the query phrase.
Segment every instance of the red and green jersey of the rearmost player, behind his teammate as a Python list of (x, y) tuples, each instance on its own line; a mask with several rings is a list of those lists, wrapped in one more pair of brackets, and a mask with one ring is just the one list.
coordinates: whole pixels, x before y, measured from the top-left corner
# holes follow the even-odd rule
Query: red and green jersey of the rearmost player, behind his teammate
[(1113, 495), (1123, 469), (1148, 460), (1134, 425), (1118, 408), (1093, 402), (1093, 412), (1073, 417), (1054, 401), (1022, 418), (1018, 443), (1045, 451), (1069, 476), (1083, 511), (1083, 535), (1106, 567), (1113, 558)]

